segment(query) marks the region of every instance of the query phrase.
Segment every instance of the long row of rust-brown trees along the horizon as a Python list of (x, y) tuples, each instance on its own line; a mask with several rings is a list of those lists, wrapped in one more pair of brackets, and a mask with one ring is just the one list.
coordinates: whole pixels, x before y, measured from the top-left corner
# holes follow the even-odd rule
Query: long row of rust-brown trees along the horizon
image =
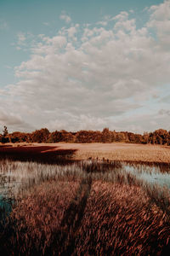
[(0, 143), (143, 143), (170, 145), (170, 131), (159, 129), (153, 132), (144, 132), (143, 135), (128, 131), (48, 131), (47, 128), (32, 131), (31, 133), (14, 131), (8, 133), (4, 126), (0, 134)]

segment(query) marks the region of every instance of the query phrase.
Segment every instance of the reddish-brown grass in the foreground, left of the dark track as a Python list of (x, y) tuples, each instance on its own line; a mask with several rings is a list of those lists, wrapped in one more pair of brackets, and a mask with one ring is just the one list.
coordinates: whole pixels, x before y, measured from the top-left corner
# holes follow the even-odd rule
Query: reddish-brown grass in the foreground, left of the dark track
[(65, 209), (73, 200), (77, 187), (78, 182), (67, 180), (49, 181), (31, 189), (11, 213), (9, 225), (12, 232), (6, 230), (7, 237), (3, 234), (1, 253), (43, 254), (50, 245), (54, 232), (59, 230)]

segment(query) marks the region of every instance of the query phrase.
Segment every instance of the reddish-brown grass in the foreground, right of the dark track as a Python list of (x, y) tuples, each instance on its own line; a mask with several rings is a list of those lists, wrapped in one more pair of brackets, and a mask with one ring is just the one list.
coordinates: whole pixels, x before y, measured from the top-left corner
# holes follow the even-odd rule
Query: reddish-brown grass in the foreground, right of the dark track
[[(163, 255), (170, 239), (167, 216), (138, 186), (95, 182), (82, 226), (78, 255)], [(83, 241), (83, 242), (82, 242)], [(95, 246), (94, 246), (95, 245)]]

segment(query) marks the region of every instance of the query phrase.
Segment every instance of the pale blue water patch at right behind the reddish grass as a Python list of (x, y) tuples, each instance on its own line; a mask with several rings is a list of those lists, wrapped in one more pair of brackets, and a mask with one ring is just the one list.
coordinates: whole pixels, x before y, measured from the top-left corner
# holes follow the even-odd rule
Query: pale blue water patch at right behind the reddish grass
[(170, 189), (170, 172), (161, 172), (158, 166), (130, 166), (123, 165), (127, 172), (135, 175), (137, 178), (147, 183), (157, 183), (161, 186), (167, 186)]

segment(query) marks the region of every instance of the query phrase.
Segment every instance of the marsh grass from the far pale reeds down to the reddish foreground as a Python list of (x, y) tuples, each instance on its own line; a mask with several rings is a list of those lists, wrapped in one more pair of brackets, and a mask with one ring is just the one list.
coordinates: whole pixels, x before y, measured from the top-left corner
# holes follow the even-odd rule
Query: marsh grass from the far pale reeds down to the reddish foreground
[(29, 182), (15, 194), (1, 255), (166, 255), (169, 190), (150, 186), (123, 165), (3, 161), (2, 173), (27, 175)]

